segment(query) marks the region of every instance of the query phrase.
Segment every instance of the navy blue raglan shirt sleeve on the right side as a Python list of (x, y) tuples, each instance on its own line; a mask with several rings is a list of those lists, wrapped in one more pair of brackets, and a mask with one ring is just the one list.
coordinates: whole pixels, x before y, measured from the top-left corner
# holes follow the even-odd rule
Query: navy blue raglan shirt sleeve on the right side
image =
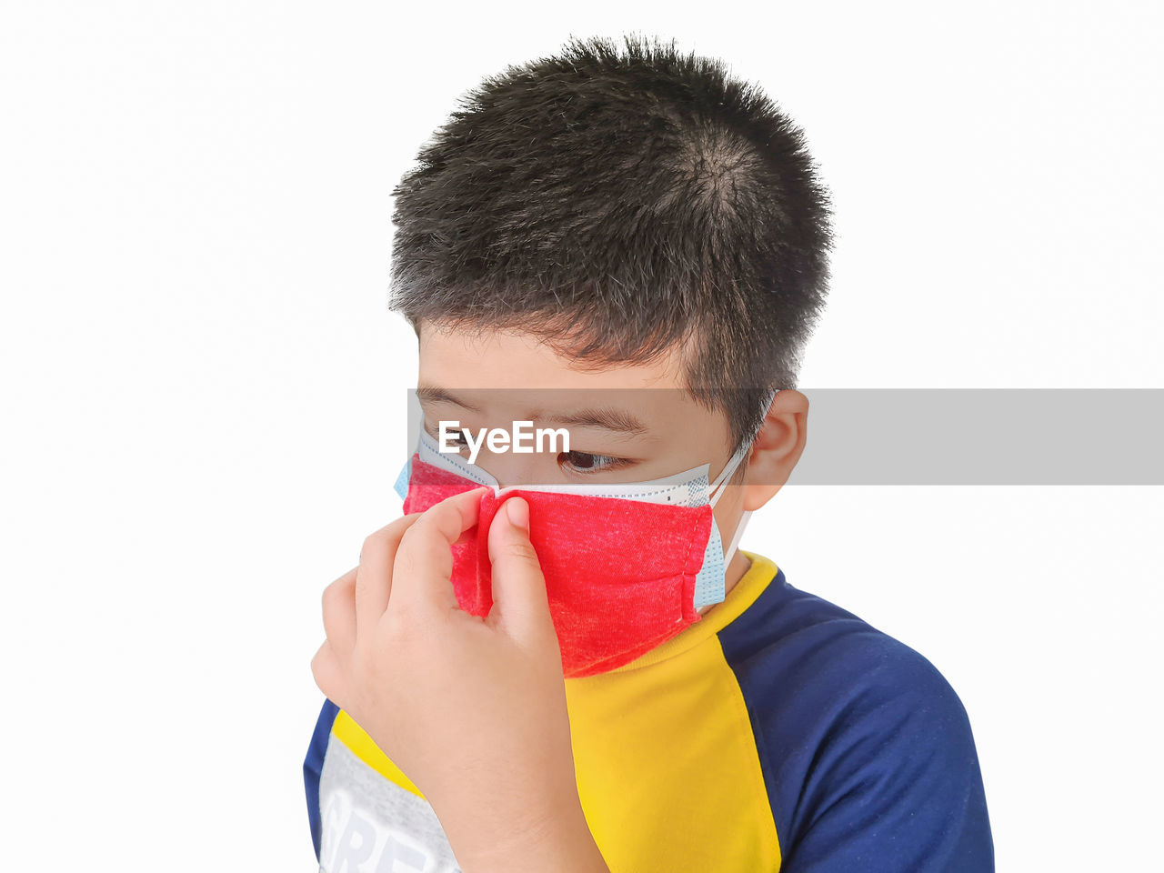
[(929, 660), (783, 573), (719, 641), (796, 870), (993, 868), (970, 721)]

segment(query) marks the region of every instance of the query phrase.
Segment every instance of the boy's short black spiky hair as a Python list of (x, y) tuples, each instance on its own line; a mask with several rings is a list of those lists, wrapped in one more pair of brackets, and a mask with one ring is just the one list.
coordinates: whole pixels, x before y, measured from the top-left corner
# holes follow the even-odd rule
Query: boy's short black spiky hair
[(580, 367), (680, 345), (737, 445), (823, 306), (830, 199), (802, 132), (722, 62), (624, 37), (488, 77), (392, 191), (391, 308)]

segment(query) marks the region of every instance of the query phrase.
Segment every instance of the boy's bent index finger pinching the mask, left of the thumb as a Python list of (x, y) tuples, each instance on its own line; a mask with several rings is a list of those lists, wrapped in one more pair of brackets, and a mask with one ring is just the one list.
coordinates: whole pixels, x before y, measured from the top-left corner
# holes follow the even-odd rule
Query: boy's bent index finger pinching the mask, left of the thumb
[(452, 583), (452, 547), (477, 524), (488, 490), (475, 488), (447, 497), (404, 532), (396, 553), (390, 612), (420, 616), (460, 609)]

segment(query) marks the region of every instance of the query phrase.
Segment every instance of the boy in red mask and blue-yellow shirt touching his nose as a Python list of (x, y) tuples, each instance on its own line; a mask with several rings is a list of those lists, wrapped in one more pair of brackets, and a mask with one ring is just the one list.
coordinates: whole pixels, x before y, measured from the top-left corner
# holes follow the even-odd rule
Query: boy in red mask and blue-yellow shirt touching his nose
[[(801, 133), (715, 62), (574, 40), (395, 193), (425, 434), (324, 596), (320, 870), (992, 871), (949, 684), (737, 548), (805, 440)], [(485, 442), (526, 420), (569, 447)]]

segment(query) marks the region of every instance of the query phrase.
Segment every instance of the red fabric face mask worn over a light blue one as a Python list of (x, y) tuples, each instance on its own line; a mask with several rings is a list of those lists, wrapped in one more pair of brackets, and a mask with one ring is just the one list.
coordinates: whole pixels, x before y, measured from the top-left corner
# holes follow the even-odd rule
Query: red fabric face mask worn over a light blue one
[[(423, 512), (480, 484), (416, 454), (404, 512)], [(629, 663), (700, 620), (693, 598), (712, 534), (711, 505), (521, 489), (487, 492), (477, 527), (453, 547), (452, 582), (461, 609), (483, 617), (492, 606), (489, 525), (514, 495), (530, 504), (530, 539), (546, 577), (567, 677)], [(718, 535), (712, 548), (722, 556)]]

